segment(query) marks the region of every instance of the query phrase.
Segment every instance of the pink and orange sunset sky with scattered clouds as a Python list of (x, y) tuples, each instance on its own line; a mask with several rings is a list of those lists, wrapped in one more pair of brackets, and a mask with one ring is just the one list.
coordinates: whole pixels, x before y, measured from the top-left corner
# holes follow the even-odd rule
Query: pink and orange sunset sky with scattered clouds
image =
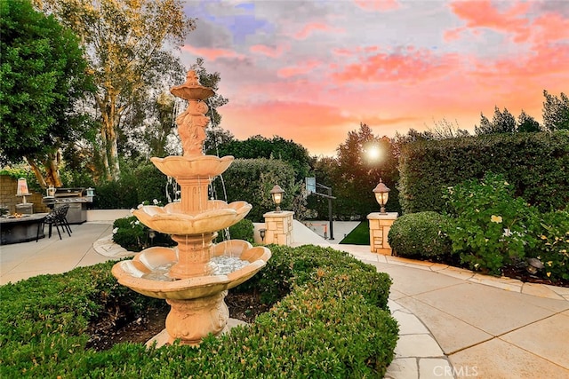
[(445, 119), (474, 130), (494, 107), (541, 122), (567, 93), (569, 1), (184, 1), (181, 49), (220, 73), (220, 126), (335, 154), (367, 123), (379, 137)]

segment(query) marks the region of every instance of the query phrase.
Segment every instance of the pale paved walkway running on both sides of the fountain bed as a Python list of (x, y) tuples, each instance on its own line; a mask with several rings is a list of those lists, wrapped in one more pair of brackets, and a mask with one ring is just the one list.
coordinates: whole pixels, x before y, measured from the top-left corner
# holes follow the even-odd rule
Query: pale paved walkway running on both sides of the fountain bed
[[(379, 256), (369, 252), (369, 246), (336, 244), (355, 225), (334, 222), (336, 240), (329, 241), (295, 222), (294, 244), (345, 250), (392, 277), (389, 308), (399, 322), (400, 336), (386, 377), (569, 378), (569, 288), (493, 278)], [(111, 225), (72, 228), (72, 236), (62, 240), (56, 235), (0, 246), (0, 284), (127, 254), (108, 240)]]

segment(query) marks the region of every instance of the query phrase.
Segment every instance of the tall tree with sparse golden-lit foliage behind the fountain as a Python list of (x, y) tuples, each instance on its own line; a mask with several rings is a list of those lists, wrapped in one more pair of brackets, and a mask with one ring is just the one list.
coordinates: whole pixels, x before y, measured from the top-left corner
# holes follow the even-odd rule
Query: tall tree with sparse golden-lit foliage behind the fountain
[(118, 179), (118, 138), (125, 115), (148, 87), (176, 67), (164, 46), (180, 46), (196, 25), (180, 0), (34, 0), (75, 30), (97, 85), (100, 143), (106, 177)]

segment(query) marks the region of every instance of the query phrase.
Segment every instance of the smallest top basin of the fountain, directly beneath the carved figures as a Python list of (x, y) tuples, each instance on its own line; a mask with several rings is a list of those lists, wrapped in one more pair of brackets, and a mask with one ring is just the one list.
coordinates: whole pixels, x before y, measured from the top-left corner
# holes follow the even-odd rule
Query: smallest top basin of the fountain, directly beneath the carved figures
[(228, 170), (233, 162), (233, 156), (219, 157), (216, 155), (178, 156), (165, 158), (150, 158), (156, 168), (172, 178), (210, 179)]

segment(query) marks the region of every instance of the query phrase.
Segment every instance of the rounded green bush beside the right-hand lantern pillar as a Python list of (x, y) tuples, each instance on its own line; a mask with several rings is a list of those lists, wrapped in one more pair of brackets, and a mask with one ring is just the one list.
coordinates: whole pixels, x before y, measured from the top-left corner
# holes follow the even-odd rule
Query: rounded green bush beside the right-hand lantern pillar
[(388, 241), (393, 255), (440, 260), (451, 255), (451, 241), (445, 235), (446, 217), (437, 212), (409, 213), (391, 225)]

